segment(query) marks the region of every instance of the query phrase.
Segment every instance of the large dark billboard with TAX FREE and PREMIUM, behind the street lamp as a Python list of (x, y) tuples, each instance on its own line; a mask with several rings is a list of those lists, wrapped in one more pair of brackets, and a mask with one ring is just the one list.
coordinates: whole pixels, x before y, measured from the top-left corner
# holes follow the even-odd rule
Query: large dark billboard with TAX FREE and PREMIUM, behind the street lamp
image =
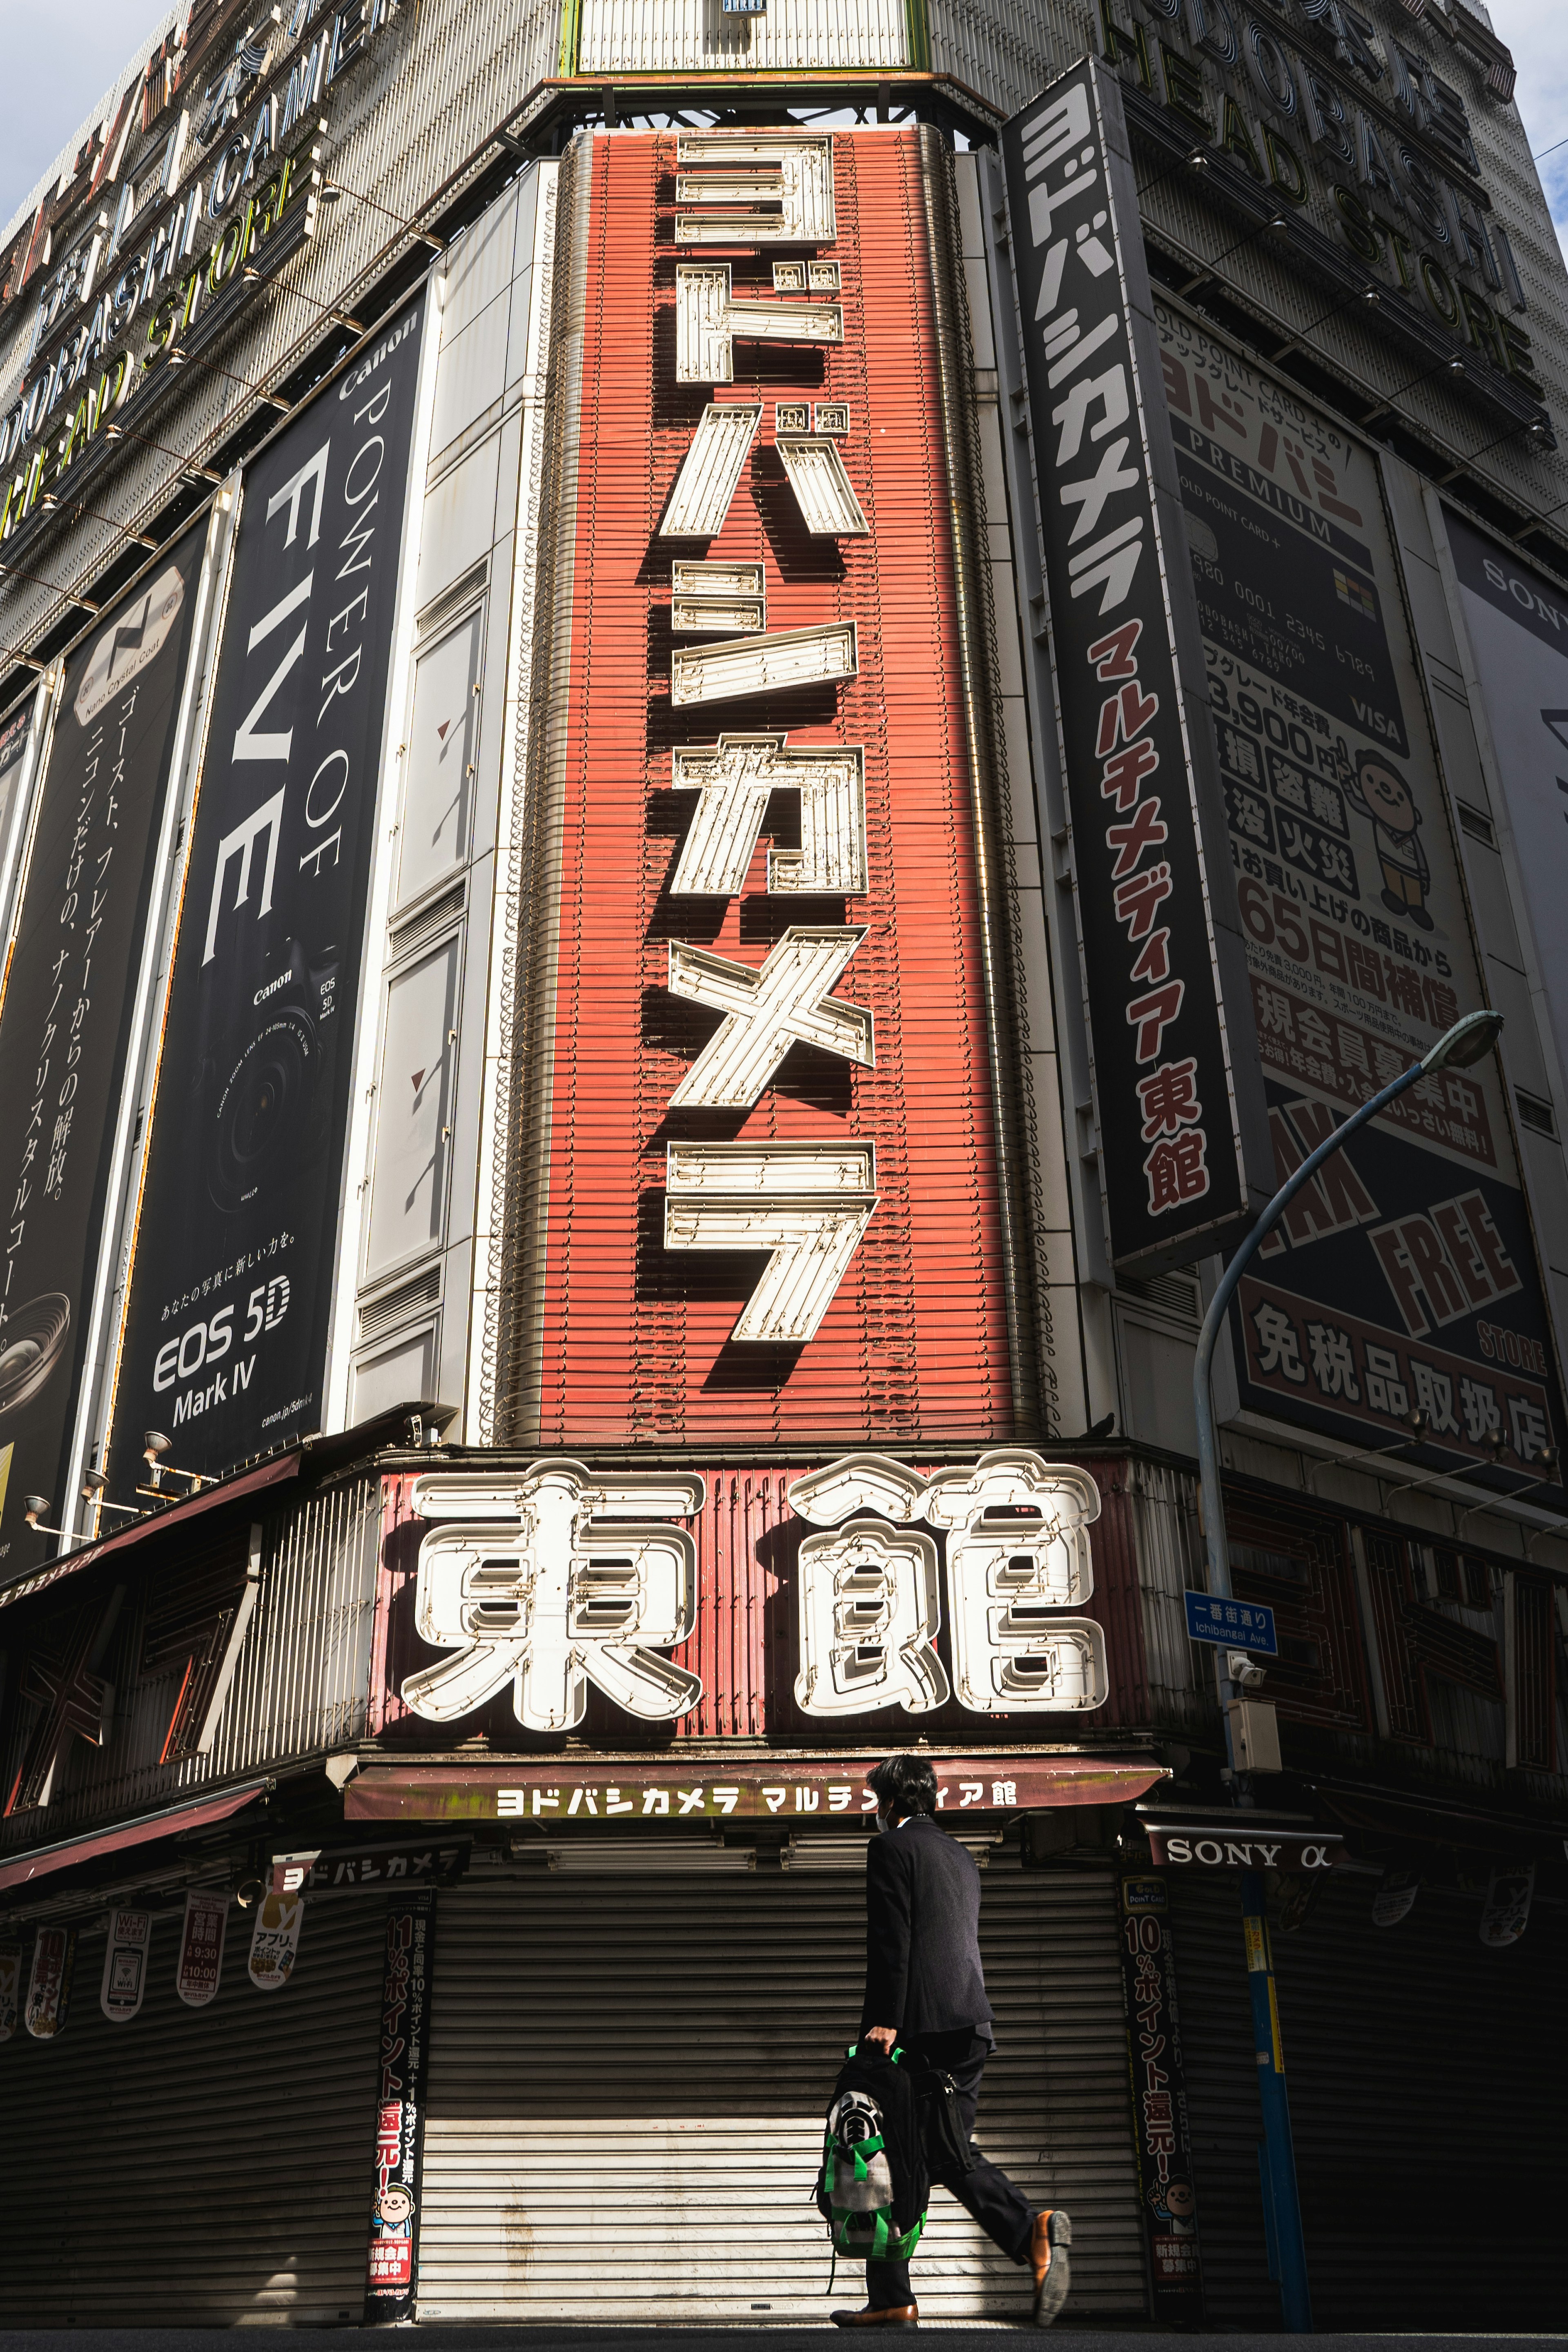
[[(1373, 454), (1161, 308), (1161, 362), (1274, 1169), (1483, 1004)], [(1232, 1312), (1244, 1406), (1462, 1463), (1561, 1444), (1488, 1056), (1420, 1080), (1298, 1195)], [(1502, 1454), (1497, 1454), (1502, 1446)]]

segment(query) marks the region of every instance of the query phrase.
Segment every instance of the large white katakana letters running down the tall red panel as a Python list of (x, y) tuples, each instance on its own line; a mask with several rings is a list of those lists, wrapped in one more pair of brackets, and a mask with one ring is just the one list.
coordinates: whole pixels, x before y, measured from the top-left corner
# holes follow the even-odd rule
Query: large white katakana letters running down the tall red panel
[[(682, 136), (677, 160), (677, 245), (835, 242), (830, 134), (691, 134)], [(776, 263), (771, 296), (736, 294), (729, 261), (679, 261), (675, 381), (731, 383), (736, 343), (818, 350), (842, 343), (844, 308), (820, 299), (839, 289), (839, 263), (820, 256)], [(661, 539), (712, 539), (722, 529), (762, 421), (764, 402), (755, 397), (712, 400), (703, 409), (661, 517)], [(811, 534), (870, 529), (835, 442), (846, 428), (842, 405), (818, 402), (811, 419), (811, 402), (773, 402), (773, 447)], [(835, 616), (769, 633), (762, 564), (672, 560), (670, 572), (670, 633), (698, 640), (672, 649), (672, 708), (858, 675), (853, 621)], [(719, 612), (733, 616), (736, 635), (715, 642)], [(710, 746), (677, 748), (670, 783), (696, 795), (670, 875), (675, 898), (745, 891), (769, 797), (780, 786), (799, 793), (799, 849), (769, 851), (769, 896), (846, 898), (867, 889), (865, 753), (858, 743), (785, 750), (780, 734), (719, 736)], [(670, 1108), (750, 1110), (795, 1044), (872, 1070), (867, 1007), (832, 993), (863, 938), (865, 924), (802, 924), (759, 964), (672, 941), (670, 993), (722, 1011), (724, 1021), (675, 1087)], [(816, 1338), (877, 1209), (875, 1178), (875, 1148), (860, 1141), (670, 1143), (663, 1244), (668, 1251), (766, 1249), (769, 1263), (731, 1341), (804, 1345)], [(832, 1644), (823, 1656), (830, 1653)], [(835, 1668), (823, 1672), (832, 1679)]]

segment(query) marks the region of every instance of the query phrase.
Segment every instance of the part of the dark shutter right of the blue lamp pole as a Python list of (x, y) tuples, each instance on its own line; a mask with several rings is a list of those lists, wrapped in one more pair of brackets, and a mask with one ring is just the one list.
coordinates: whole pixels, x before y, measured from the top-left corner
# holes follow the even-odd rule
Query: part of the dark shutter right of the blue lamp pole
[(1563, 1912), (1488, 1952), (1425, 1886), (1378, 1929), (1335, 1875), (1274, 1936), (1319, 2328), (1561, 2328)]

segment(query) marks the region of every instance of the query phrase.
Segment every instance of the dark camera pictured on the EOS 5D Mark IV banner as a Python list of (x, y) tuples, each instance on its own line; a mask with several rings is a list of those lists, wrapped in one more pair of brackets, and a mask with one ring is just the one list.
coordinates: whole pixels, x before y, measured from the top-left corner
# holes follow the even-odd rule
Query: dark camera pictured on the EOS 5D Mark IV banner
[(195, 1096), (205, 1190), (223, 1216), (275, 1192), (327, 1150), (327, 1028), (336, 1000), (339, 950), (327, 946), (313, 957), (299, 938), (268, 955), (266, 978), (237, 1011), (214, 976)]

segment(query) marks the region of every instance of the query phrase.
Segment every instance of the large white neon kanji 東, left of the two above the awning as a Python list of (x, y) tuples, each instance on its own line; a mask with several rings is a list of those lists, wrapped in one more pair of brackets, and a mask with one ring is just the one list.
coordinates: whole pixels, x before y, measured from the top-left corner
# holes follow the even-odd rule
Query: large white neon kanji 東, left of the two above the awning
[(454, 1656), (404, 1682), (407, 1705), (449, 1724), (510, 1682), (520, 1724), (571, 1731), (592, 1682), (646, 1722), (684, 1715), (701, 1677), (661, 1651), (696, 1623), (696, 1545), (670, 1522), (703, 1501), (701, 1477), (595, 1477), (576, 1461), (418, 1479), (414, 1510), (437, 1524), (414, 1623)]

